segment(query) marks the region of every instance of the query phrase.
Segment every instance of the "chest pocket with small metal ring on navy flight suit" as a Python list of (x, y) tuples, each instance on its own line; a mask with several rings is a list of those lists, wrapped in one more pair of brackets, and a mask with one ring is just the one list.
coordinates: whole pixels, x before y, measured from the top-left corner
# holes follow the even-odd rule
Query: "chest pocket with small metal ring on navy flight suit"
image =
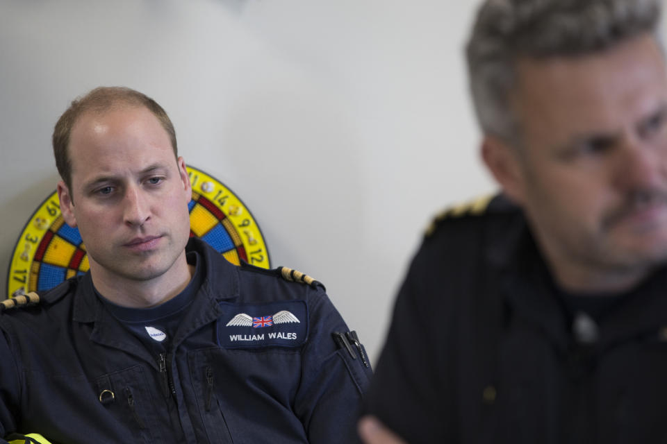
[(155, 402), (141, 366), (133, 366), (96, 379), (98, 400), (113, 418), (109, 429), (118, 440), (142, 438), (145, 443), (161, 442)]

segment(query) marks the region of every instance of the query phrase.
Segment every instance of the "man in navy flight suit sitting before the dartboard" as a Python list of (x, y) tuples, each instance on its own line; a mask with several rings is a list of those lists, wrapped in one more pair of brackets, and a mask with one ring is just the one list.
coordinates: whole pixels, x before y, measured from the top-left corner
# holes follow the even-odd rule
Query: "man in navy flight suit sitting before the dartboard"
[(0, 314), (0, 442), (345, 442), (370, 377), (356, 334), (319, 282), (189, 239), (190, 180), (160, 105), (94, 89), (53, 149), (90, 272)]

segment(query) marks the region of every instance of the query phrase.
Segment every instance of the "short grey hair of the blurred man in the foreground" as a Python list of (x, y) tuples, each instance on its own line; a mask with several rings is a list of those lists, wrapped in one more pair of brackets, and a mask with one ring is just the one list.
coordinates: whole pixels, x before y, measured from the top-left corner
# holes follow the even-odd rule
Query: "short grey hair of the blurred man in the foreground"
[(466, 48), (481, 129), (520, 139), (509, 105), (519, 58), (578, 56), (645, 33), (660, 42), (660, 12), (661, 0), (486, 0)]

